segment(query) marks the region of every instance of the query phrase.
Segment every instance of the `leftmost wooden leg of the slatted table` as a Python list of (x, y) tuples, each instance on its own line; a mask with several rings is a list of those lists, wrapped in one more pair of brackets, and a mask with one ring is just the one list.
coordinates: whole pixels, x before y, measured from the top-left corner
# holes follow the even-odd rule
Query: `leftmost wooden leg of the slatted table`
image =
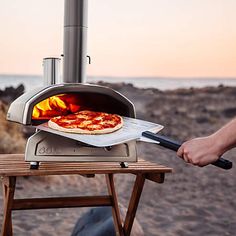
[(14, 200), (16, 177), (2, 177), (3, 187), (3, 223), (1, 236), (12, 236), (12, 205)]

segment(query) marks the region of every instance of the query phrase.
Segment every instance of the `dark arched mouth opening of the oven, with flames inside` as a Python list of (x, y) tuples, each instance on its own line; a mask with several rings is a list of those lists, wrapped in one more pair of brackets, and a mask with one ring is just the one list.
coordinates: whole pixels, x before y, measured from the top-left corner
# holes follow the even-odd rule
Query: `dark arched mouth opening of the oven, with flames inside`
[(84, 110), (129, 116), (127, 106), (114, 97), (91, 92), (69, 92), (52, 95), (34, 104), (30, 114), (31, 124), (40, 125), (53, 117)]

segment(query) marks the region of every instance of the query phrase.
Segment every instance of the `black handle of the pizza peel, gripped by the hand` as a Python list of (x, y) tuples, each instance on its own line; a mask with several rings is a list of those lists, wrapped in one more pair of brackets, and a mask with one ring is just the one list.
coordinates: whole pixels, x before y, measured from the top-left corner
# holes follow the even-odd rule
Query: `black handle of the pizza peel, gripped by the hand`
[[(174, 140), (169, 139), (169, 138), (162, 136), (162, 135), (154, 134), (150, 131), (143, 132), (142, 136), (152, 139), (152, 140), (155, 140), (155, 141), (158, 141), (160, 143), (159, 144), (160, 146), (171, 149), (176, 152), (178, 151), (178, 149), (181, 146), (181, 143), (179, 143), (177, 141), (174, 141)], [(216, 162), (213, 162), (211, 164), (214, 166), (220, 167), (222, 169), (225, 169), (225, 170), (229, 170), (233, 166), (233, 163), (231, 161), (228, 161), (222, 157), (220, 157)]]

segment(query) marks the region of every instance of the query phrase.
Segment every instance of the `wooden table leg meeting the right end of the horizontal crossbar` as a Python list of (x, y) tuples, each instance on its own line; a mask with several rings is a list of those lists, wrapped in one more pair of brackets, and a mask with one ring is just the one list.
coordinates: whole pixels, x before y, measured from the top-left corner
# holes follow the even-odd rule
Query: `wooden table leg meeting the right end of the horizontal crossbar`
[(107, 174), (106, 181), (107, 181), (108, 193), (112, 197), (112, 215), (114, 219), (116, 234), (118, 234), (119, 236), (124, 236), (121, 217), (120, 217), (120, 210), (119, 210), (117, 195), (115, 191), (113, 174)]

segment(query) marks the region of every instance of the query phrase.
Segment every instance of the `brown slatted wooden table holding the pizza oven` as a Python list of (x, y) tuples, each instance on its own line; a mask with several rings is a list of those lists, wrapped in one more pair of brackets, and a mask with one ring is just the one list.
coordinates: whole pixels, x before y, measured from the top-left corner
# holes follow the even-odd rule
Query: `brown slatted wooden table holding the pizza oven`
[[(1, 235), (13, 235), (11, 216), (13, 210), (111, 206), (117, 234), (120, 236), (128, 236), (130, 235), (133, 226), (145, 179), (156, 183), (163, 183), (165, 173), (169, 173), (171, 171), (171, 168), (144, 160), (139, 160), (136, 163), (129, 163), (128, 168), (121, 168), (120, 164), (115, 162), (41, 162), (38, 170), (30, 170), (30, 164), (24, 161), (23, 154), (0, 155), (0, 176), (2, 180), (4, 204)], [(16, 178), (18, 176), (76, 174), (85, 176), (105, 174), (108, 195), (30, 199), (14, 198)], [(128, 211), (124, 223), (122, 223), (118, 207), (118, 200), (114, 185), (114, 174), (136, 175), (133, 192), (129, 201)]]

